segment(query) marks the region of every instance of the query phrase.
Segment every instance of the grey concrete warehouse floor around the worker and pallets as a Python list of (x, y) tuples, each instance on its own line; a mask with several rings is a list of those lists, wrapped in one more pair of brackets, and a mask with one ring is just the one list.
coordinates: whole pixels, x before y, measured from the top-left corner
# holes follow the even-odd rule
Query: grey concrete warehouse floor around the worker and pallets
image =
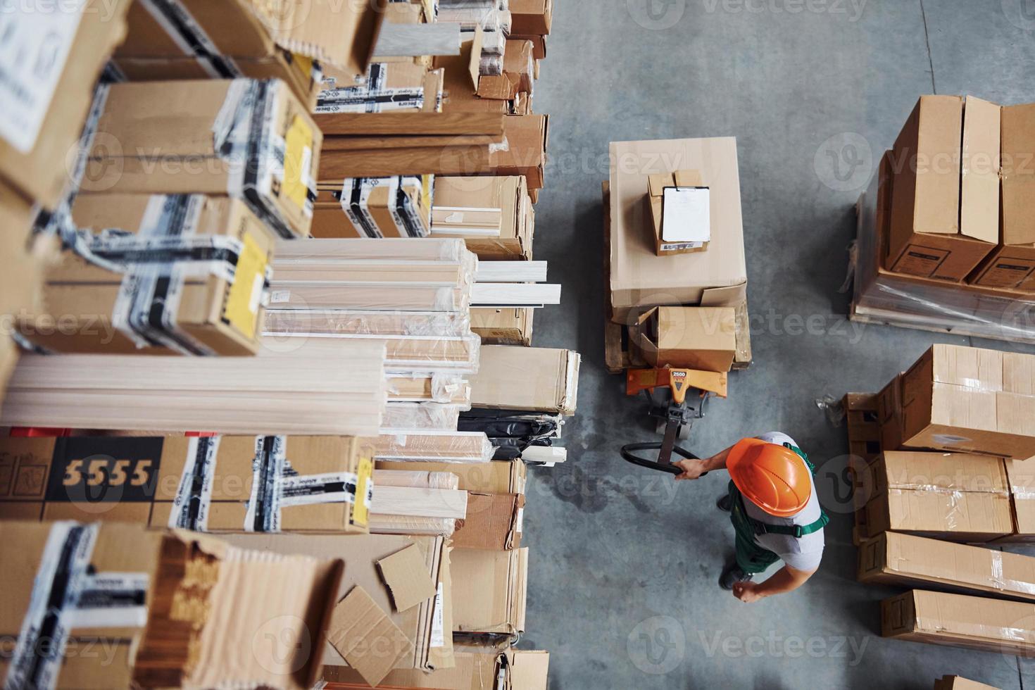
[[(551, 262), (564, 301), (537, 314), (535, 344), (576, 348), (584, 359), (569, 461), (535, 471), (529, 486), (523, 646), (551, 651), (551, 688), (926, 689), (944, 673), (1035, 688), (1032, 661), (880, 637), (878, 602), (894, 590), (855, 582), (836, 472), (845, 429), (814, 404), (879, 389), (931, 342), (967, 342), (846, 322), (838, 288), (852, 207), (920, 94), (1035, 100), (1035, 3), (556, 5), (535, 93), (536, 111), (552, 117), (535, 253)], [(812, 581), (757, 604), (716, 586), (732, 551), (732, 528), (713, 507), (727, 479), (677, 486), (624, 463), (621, 445), (652, 437), (640, 400), (603, 369), (608, 144), (717, 136), (738, 140), (755, 364), (731, 377), (729, 399), (712, 404), (690, 446), (712, 453), (744, 436), (789, 432), (825, 463), (820, 484), (833, 518)], [(838, 155), (845, 167), (835, 171)], [(827, 328), (797, 334), (796, 318), (811, 314)]]

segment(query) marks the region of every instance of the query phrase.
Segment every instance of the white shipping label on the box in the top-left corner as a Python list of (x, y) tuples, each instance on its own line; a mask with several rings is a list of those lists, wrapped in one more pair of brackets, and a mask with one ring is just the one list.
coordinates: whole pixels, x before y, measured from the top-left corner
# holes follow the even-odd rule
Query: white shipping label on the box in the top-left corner
[(22, 153), (36, 144), (86, 0), (0, 0), (0, 137)]

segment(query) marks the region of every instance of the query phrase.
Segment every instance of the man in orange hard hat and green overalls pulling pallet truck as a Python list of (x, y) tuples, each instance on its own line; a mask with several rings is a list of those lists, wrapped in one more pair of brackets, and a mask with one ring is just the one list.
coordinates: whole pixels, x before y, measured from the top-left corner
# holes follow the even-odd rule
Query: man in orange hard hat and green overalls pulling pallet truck
[[(730, 472), (729, 493), (717, 505), (730, 513), (737, 558), (722, 570), (723, 590), (750, 603), (793, 592), (819, 569), (823, 528), (830, 518), (816, 494), (816, 469), (791, 437), (763, 433), (709, 458), (675, 464), (683, 471), (677, 480), (697, 479), (711, 470)], [(783, 561), (783, 568), (764, 582), (751, 582), (777, 561)]]

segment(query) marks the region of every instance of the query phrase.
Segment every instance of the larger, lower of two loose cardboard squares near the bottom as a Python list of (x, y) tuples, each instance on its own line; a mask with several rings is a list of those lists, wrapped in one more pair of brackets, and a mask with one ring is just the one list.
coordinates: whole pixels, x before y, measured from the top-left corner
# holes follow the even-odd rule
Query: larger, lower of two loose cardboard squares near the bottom
[(414, 652), (413, 642), (359, 586), (334, 607), (327, 640), (372, 686)]

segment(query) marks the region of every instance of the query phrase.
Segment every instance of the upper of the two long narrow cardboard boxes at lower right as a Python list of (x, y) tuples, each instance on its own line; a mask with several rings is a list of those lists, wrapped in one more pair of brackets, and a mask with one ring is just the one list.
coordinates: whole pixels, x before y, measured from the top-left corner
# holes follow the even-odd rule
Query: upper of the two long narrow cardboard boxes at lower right
[(1035, 558), (885, 532), (859, 545), (859, 581), (1035, 601)]

